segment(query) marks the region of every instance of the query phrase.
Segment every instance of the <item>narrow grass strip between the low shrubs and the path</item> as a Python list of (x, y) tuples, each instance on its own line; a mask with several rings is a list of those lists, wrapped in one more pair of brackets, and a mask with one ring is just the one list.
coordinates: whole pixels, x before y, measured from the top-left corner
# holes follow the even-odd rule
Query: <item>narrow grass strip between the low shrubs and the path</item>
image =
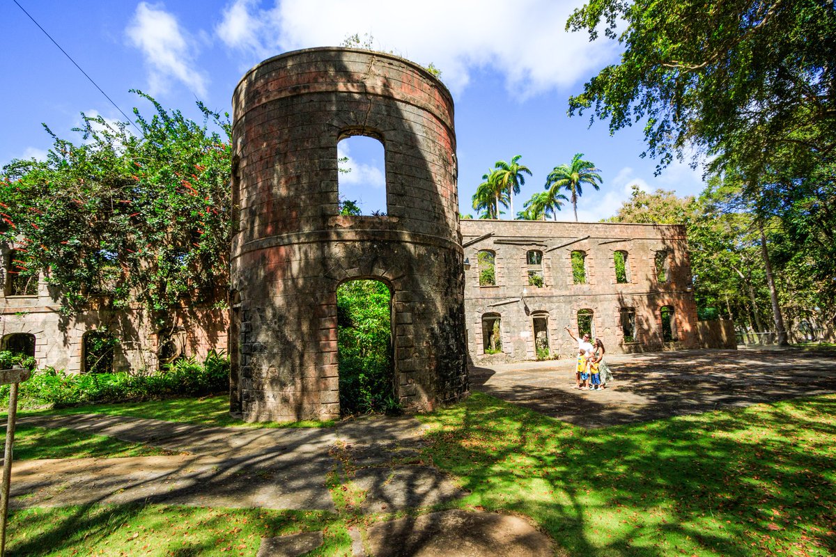
[[(229, 397), (185, 397), (166, 398), (142, 403), (91, 404), (74, 408), (43, 409), (18, 413), (19, 416), (43, 414), (105, 414), (108, 416), (130, 416), (133, 418), (153, 418), (167, 422), (196, 423), (206, 426), (226, 428), (329, 428), (333, 420), (303, 422), (244, 422), (229, 415)], [(5, 419), (0, 414), (0, 419)]]

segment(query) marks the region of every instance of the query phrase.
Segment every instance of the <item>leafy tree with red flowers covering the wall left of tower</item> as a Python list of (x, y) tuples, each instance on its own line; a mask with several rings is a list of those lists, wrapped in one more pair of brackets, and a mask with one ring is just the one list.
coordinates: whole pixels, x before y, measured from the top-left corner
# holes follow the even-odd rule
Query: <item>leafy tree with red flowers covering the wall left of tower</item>
[(216, 301), (228, 283), (228, 115), (198, 103), (198, 124), (137, 94), (155, 109), (151, 119), (134, 109), (141, 136), (83, 114), (82, 143), (47, 130), (47, 160), (13, 160), (0, 174), (0, 232), (65, 311), (139, 302), (161, 316)]

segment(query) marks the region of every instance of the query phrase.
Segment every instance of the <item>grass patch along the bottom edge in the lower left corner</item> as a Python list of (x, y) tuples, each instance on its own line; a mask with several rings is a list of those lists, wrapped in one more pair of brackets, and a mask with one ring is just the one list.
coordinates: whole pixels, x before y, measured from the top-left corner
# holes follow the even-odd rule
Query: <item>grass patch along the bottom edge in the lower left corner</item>
[(81, 505), (16, 510), (13, 555), (254, 555), (263, 537), (324, 530), (324, 554), (350, 548), (333, 513), (174, 505)]

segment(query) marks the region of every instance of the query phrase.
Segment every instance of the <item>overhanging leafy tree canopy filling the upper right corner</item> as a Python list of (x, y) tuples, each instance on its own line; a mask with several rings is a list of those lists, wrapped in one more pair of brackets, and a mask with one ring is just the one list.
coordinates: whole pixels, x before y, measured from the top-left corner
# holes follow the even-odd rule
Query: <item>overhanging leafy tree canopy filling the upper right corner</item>
[[(590, 0), (567, 28), (624, 46), (569, 99), (611, 131), (640, 120), (647, 154), (686, 148), (759, 174), (779, 149), (833, 154), (836, 10), (832, 0)], [(620, 31), (620, 33), (619, 33)]]

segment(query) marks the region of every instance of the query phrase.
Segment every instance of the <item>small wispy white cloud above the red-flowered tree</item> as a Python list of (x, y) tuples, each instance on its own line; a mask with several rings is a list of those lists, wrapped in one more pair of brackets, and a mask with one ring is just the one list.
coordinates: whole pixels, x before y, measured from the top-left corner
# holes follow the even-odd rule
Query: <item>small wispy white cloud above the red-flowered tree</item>
[(191, 56), (193, 43), (171, 13), (140, 2), (125, 33), (145, 55), (150, 94), (165, 92), (171, 80), (177, 80), (196, 95), (206, 96), (206, 76), (194, 67)]

